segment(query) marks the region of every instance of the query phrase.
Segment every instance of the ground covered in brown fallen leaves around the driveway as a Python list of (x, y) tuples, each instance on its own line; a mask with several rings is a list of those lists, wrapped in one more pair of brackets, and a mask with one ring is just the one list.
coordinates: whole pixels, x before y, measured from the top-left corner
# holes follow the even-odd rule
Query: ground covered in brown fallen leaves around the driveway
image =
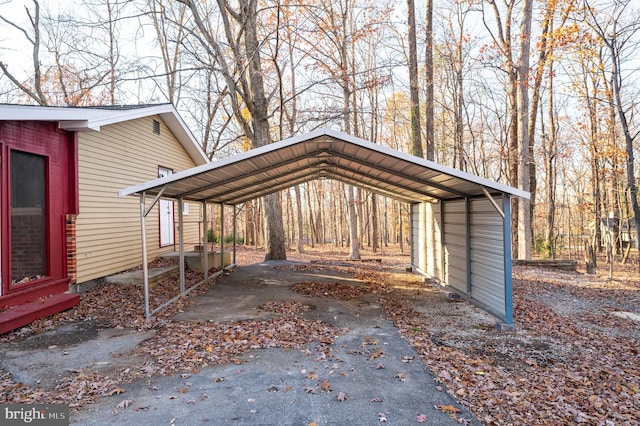
[[(341, 251), (290, 254), (314, 262), (286, 268), (340, 268), (366, 286), (297, 283), (294, 291), (349, 299), (373, 294), (402, 336), (441, 383), (443, 391), (486, 424), (639, 424), (640, 284), (635, 272), (616, 279), (526, 267), (514, 268), (514, 332), (499, 332), (492, 317), (467, 302), (448, 299), (418, 276), (398, 273), (407, 256), (380, 255), (382, 262), (350, 263)], [(239, 248), (238, 263), (262, 260), (262, 252)], [(188, 276), (187, 285), (200, 280)], [(201, 294), (210, 285), (192, 292)], [(175, 295), (175, 282), (152, 289), (152, 305)], [(80, 305), (42, 319), (0, 341), (20, 341), (61, 322), (92, 320), (104, 327), (157, 330), (137, 349), (144, 362), (101, 375), (80, 371), (51, 389), (16, 383), (0, 371), (0, 403), (66, 402), (81, 409), (117, 392), (121, 383), (153, 375), (197, 371), (207, 365), (239, 362), (252, 348), (302, 348), (309, 342), (331, 344), (340, 330), (309, 321), (299, 302), (261, 306), (275, 313), (269, 320), (191, 324), (171, 317), (191, 297), (147, 320), (141, 312), (142, 290), (101, 286), (82, 295)], [(634, 316), (635, 315), (635, 316)]]

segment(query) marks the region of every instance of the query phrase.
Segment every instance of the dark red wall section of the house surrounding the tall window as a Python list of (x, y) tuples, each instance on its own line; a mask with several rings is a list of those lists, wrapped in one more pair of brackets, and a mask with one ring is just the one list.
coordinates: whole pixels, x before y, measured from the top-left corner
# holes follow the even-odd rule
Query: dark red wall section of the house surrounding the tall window
[[(44, 156), (47, 170), (46, 278), (11, 285), (9, 154), (12, 150)], [(0, 234), (2, 296), (0, 306), (16, 305), (68, 289), (67, 214), (77, 214), (77, 139), (56, 123), (0, 122)], [(26, 241), (25, 241), (26, 242)], [(75, 256), (75, 253), (73, 253)]]

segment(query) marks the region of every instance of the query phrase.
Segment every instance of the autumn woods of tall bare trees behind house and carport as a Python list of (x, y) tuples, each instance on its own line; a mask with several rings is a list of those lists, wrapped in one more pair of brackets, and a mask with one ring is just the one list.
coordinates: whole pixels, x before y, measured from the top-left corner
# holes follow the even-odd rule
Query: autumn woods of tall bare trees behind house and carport
[[(82, 3), (0, 0), (0, 102), (170, 102), (211, 159), (332, 127), (531, 191), (514, 258), (637, 258), (636, 2)], [(316, 244), (359, 258), (406, 242), (407, 215), (314, 181), (239, 217), (267, 258)]]

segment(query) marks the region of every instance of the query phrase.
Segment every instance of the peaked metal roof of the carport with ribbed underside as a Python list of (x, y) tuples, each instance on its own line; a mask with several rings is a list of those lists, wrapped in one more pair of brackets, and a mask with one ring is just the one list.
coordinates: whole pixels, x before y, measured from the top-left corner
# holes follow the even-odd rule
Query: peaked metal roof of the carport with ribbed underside
[(318, 129), (222, 160), (135, 185), (145, 193), (237, 205), (319, 178), (335, 179), (404, 202), (529, 193), (331, 129)]

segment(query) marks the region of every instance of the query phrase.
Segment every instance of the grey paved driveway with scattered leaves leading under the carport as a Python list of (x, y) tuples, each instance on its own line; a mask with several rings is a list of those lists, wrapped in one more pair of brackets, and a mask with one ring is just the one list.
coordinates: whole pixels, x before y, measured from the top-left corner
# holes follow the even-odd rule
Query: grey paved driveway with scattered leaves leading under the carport
[[(426, 418), (426, 424), (477, 424), (434, 380), (386, 318), (375, 295), (336, 300), (290, 289), (296, 282), (323, 281), (359, 285), (346, 274), (314, 269), (313, 264), (254, 264), (219, 278), (175, 320), (264, 318), (274, 314), (258, 306), (297, 300), (312, 307), (303, 314), (306, 318), (343, 329), (335, 343), (314, 342), (303, 350), (254, 350), (242, 357), (241, 364), (125, 384), (125, 393), (83, 408), (71, 416), (71, 423), (412, 425)], [(129, 334), (127, 338), (131, 340)], [(63, 349), (68, 356), (91, 350), (89, 344)], [(460, 412), (454, 419), (436, 406)]]

